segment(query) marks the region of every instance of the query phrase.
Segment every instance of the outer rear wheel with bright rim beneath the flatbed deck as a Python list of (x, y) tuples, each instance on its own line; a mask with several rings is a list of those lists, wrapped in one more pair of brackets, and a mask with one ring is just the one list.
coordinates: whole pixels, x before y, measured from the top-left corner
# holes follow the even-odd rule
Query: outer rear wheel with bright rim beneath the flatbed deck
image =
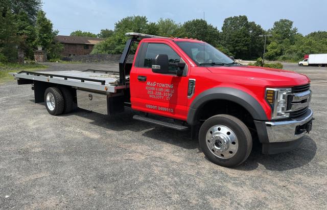
[(48, 87), (44, 92), (46, 110), (52, 115), (59, 115), (63, 112), (65, 101), (61, 91), (57, 87)]

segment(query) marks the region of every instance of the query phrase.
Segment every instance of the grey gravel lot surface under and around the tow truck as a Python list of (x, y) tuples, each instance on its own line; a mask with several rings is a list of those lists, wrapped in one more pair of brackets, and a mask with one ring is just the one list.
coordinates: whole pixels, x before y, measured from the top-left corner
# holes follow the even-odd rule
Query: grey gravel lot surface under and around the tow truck
[(326, 209), (327, 68), (284, 66), (312, 80), (313, 130), (298, 149), (254, 148), (235, 169), (209, 162), (188, 132), (134, 121), (130, 109), (52, 116), (30, 85), (0, 85), (0, 208)]

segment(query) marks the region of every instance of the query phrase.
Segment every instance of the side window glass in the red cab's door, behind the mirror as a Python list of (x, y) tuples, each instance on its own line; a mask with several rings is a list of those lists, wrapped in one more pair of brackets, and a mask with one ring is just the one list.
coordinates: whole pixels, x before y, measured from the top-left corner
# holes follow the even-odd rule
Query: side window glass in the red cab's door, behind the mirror
[[(155, 57), (159, 54), (168, 55), (169, 63), (179, 63), (180, 57), (177, 53), (167, 44), (161, 43), (149, 43), (147, 52), (144, 58), (144, 67), (151, 68), (152, 62), (154, 62)], [(176, 74), (177, 66), (169, 65), (169, 72), (172, 74)]]

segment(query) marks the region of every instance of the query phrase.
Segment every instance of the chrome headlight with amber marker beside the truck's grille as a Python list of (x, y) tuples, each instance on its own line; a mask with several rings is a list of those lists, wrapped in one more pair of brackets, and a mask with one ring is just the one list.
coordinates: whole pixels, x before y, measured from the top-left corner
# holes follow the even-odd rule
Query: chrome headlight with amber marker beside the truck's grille
[(266, 100), (271, 106), (271, 119), (281, 119), (290, 116), (286, 113), (287, 94), (290, 94), (291, 88), (267, 88)]

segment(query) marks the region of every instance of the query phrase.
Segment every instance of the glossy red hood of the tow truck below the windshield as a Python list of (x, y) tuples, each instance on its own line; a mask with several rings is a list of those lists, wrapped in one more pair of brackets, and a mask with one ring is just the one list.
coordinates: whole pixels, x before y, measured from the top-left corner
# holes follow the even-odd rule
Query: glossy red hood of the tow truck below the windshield
[(310, 82), (306, 75), (282, 69), (258, 66), (212, 66), (207, 67), (207, 69), (214, 74), (234, 76), (236, 80), (243, 79), (245, 82), (250, 79), (252, 82), (256, 80), (259, 83), (268, 83), (268, 85), (279, 87), (296, 86)]

